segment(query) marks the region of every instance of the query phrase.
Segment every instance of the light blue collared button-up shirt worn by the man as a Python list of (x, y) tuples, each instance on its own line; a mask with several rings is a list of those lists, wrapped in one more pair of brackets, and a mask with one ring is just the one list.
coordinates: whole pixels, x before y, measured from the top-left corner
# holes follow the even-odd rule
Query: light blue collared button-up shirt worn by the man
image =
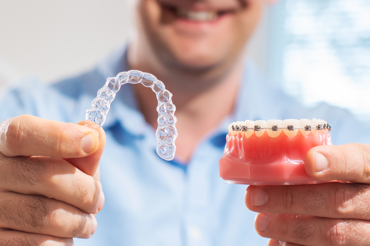
[[(3, 94), (1, 119), (21, 114), (65, 122), (85, 118), (107, 77), (129, 70), (125, 51), (116, 52), (94, 70), (53, 85), (30, 77)], [(329, 90), (330, 88), (325, 88)], [(245, 63), (235, 110), (199, 142), (188, 163), (162, 160), (155, 130), (138, 110), (131, 84), (117, 93), (103, 128), (107, 135), (100, 162), (105, 205), (90, 239), (75, 245), (266, 245), (254, 229), (256, 213), (244, 204), (245, 185), (225, 184), (218, 159), (228, 125), (246, 119), (321, 118), (333, 126), (334, 144), (369, 143), (370, 131), (346, 110), (320, 104), (302, 107), (267, 84), (252, 63)]]

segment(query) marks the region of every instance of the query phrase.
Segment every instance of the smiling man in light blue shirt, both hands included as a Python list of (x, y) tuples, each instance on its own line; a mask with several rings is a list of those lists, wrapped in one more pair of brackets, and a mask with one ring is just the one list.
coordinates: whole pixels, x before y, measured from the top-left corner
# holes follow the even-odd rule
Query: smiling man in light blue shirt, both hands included
[[(323, 118), (334, 127), (334, 143), (369, 141), (369, 130), (346, 111), (326, 104), (303, 108), (244, 61), (242, 49), (263, 4), (141, 0), (138, 38), (127, 51), (54, 86), (29, 80), (11, 91), (1, 104), (2, 118), (15, 118), (1, 125), (0, 227), (13, 230), (1, 229), (2, 243), (72, 245), (72, 237), (95, 232), (93, 214), (105, 201), (94, 236), (76, 245), (267, 243), (245, 205), (264, 213), (255, 226), (272, 238), (271, 246), (277, 240), (369, 245), (368, 145), (319, 146), (305, 159), (307, 173), (318, 180), (360, 184), (249, 186), (244, 205), (246, 186), (218, 177), (227, 127), (236, 120)], [(106, 142), (102, 129), (84, 122), (48, 120), (80, 121), (105, 78), (129, 69), (154, 74), (173, 94), (179, 136), (171, 162), (155, 153), (157, 101), (139, 84), (117, 93), (104, 125)]]

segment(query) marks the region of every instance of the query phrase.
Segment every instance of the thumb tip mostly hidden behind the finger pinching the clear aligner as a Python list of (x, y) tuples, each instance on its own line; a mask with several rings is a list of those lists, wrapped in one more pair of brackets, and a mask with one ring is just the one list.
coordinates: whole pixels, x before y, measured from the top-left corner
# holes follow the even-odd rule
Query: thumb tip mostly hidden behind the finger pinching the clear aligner
[[(85, 125), (86, 121), (80, 121), (77, 123), (78, 125)], [(95, 129), (97, 133), (99, 134), (99, 145), (98, 149), (92, 153), (91, 155), (79, 157), (79, 158), (67, 158), (64, 159), (67, 162), (71, 163), (73, 166), (77, 167), (84, 173), (94, 176), (96, 169), (98, 168), (101, 155), (104, 150), (105, 146), (105, 132), (103, 128), (98, 127), (97, 124), (94, 124), (92, 122), (89, 122), (89, 127), (92, 129)]]

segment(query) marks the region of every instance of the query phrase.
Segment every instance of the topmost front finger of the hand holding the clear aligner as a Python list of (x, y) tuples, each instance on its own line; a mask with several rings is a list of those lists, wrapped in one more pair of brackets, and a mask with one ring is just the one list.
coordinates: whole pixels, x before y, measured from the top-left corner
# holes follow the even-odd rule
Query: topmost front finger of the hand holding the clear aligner
[(98, 149), (98, 134), (73, 123), (21, 115), (0, 125), (0, 152), (6, 156), (84, 157)]

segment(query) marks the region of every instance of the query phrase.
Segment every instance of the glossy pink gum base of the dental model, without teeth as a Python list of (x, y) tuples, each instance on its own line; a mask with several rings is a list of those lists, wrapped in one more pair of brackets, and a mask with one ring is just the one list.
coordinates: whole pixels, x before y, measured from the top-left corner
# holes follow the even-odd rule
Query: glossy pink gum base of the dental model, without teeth
[(305, 156), (309, 149), (319, 145), (332, 145), (329, 133), (317, 136), (288, 137), (283, 132), (271, 138), (265, 132), (250, 138), (242, 135), (226, 137), (223, 157), (219, 160), (220, 177), (231, 184), (281, 185), (316, 184), (305, 170)]

